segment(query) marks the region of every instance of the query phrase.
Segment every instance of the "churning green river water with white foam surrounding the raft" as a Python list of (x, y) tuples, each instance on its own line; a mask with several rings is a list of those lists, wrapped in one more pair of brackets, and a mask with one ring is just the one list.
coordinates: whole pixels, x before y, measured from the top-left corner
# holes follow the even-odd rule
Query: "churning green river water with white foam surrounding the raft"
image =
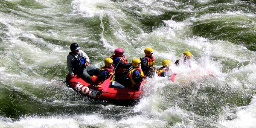
[[(96, 67), (152, 47), (175, 82), (148, 79), (134, 104), (81, 96), (63, 83), (71, 43)], [(0, 75), (0, 128), (256, 128), (256, 2), (0, 0)]]

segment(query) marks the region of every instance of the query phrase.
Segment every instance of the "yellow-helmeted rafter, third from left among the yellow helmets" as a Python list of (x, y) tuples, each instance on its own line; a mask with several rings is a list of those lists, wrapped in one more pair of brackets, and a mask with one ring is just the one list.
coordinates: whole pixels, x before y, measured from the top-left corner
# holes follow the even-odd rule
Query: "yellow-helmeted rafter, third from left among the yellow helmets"
[(155, 59), (153, 56), (153, 49), (151, 47), (147, 47), (144, 49), (145, 56), (140, 58), (141, 60), (141, 69), (143, 70), (143, 73), (148, 76), (152, 77), (155, 73)]

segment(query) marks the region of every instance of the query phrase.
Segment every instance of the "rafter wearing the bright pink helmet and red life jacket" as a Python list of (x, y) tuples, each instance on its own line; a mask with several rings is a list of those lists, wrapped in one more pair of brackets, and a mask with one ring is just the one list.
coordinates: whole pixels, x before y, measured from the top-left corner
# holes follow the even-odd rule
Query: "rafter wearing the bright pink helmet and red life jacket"
[(115, 80), (122, 83), (125, 71), (132, 67), (131, 63), (128, 63), (127, 58), (124, 55), (122, 48), (117, 48), (114, 54), (110, 57), (113, 59), (113, 67), (115, 68)]

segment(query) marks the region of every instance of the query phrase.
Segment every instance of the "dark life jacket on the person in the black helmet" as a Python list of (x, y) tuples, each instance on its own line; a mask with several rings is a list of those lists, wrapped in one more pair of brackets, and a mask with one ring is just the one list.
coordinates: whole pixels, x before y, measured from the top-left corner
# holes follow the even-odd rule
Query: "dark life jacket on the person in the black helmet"
[(78, 53), (77, 58), (75, 57), (75, 55), (72, 54), (72, 52), (70, 52), (69, 54), (74, 57), (74, 61), (72, 61), (73, 70), (75, 72), (79, 72), (79, 71), (83, 70), (85, 68), (84, 58), (81, 57), (81, 55), (79, 55), (79, 53)]

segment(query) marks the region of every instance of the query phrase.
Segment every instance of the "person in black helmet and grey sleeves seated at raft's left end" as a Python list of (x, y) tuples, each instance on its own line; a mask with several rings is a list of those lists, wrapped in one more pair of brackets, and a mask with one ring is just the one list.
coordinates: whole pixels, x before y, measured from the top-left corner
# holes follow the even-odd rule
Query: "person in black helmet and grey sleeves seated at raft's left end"
[(90, 59), (88, 55), (80, 49), (78, 44), (71, 44), (70, 50), (71, 52), (67, 55), (67, 69), (70, 77), (73, 78), (77, 74), (84, 81), (94, 85), (90, 76), (97, 75), (99, 68), (89, 65)]

